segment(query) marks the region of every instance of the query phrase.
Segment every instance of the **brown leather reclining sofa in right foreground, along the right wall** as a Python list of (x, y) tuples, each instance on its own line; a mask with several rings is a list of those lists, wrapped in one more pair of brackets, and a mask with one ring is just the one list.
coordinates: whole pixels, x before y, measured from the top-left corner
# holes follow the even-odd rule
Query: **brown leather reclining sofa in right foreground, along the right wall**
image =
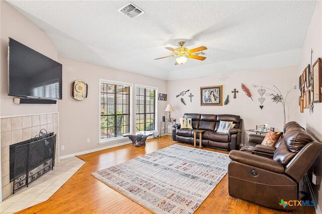
[[(281, 206), (281, 200), (298, 200), (298, 185), (322, 150), (317, 142), (296, 122), (284, 126), (284, 137), (277, 143), (273, 156), (231, 151), (228, 165), (229, 195), (273, 209), (294, 210), (296, 206)], [(257, 146), (265, 136), (250, 137)], [(264, 146), (265, 147), (265, 146)]]

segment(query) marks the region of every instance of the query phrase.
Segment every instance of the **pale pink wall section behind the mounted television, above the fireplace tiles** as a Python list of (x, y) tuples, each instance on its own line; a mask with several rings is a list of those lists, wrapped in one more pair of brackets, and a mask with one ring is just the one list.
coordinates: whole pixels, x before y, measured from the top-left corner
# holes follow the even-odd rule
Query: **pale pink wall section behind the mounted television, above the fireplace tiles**
[(0, 34), (0, 79), (1, 79), (1, 113), (4, 116), (27, 115), (57, 112), (57, 104), (14, 104), (13, 96), (8, 96), (8, 37), (52, 58), (58, 59), (58, 50), (47, 34), (30, 22), (5, 1), (1, 4)]

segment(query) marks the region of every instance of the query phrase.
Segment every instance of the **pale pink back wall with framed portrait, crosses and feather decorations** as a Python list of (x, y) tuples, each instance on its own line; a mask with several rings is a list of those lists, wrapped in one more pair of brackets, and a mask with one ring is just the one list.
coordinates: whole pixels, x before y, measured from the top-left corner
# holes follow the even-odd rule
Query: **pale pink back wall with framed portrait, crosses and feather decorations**
[[(172, 115), (177, 118), (183, 117), (184, 113), (204, 113), (204, 114), (232, 114), (240, 115), (244, 120), (245, 129), (254, 129), (256, 125), (269, 124), (277, 130), (283, 127), (283, 108), (281, 103), (272, 102), (272, 96), (265, 94), (263, 97), (264, 108), (261, 110), (258, 98), (258, 88), (252, 87), (252, 84), (263, 85), (272, 88), (271, 84), (276, 85), (285, 95), (286, 91), (298, 85), (297, 66), (274, 68), (268, 70), (246, 71), (238, 73), (230, 73), (226, 75), (200, 77), (184, 80), (168, 81), (168, 99), (173, 104), (175, 111)], [(245, 92), (240, 88), (240, 84), (246, 84), (252, 92), (253, 99), (246, 96)], [(223, 100), (229, 95), (229, 103), (222, 106), (200, 106), (200, 87), (222, 85)], [(231, 91), (236, 88), (239, 92), (233, 99)], [(176, 98), (182, 90), (190, 89), (194, 95), (192, 102), (186, 94), (184, 99), (187, 105), (180, 101), (180, 97)], [(270, 92), (267, 90), (266, 92)], [(286, 121), (298, 119), (298, 89), (292, 90), (287, 98)]]

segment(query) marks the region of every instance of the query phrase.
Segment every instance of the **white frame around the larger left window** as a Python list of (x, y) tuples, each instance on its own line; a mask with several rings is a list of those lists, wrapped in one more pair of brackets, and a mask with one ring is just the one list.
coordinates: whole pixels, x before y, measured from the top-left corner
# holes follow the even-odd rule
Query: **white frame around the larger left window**
[(123, 136), (110, 138), (110, 139), (102, 139), (101, 138), (101, 84), (119, 84), (123, 86), (129, 86), (130, 87), (130, 133), (133, 132), (133, 83), (128, 82), (120, 82), (120, 81), (114, 81), (114, 80), (107, 80), (107, 79), (100, 79), (99, 81), (99, 144), (107, 144), (119, 140), (123, 140)]

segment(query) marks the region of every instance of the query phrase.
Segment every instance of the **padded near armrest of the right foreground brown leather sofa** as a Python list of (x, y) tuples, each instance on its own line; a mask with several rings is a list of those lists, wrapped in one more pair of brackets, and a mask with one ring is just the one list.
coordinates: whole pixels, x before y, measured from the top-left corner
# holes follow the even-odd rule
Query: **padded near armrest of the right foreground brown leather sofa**
[(279, 174), (282, 174), (284, 172), (284, 166), (280, 162), (246, 152), (232, 150), (229, 152), (229, 158), (238, 163), (257, 167), (271, 172), (276, 172)]

